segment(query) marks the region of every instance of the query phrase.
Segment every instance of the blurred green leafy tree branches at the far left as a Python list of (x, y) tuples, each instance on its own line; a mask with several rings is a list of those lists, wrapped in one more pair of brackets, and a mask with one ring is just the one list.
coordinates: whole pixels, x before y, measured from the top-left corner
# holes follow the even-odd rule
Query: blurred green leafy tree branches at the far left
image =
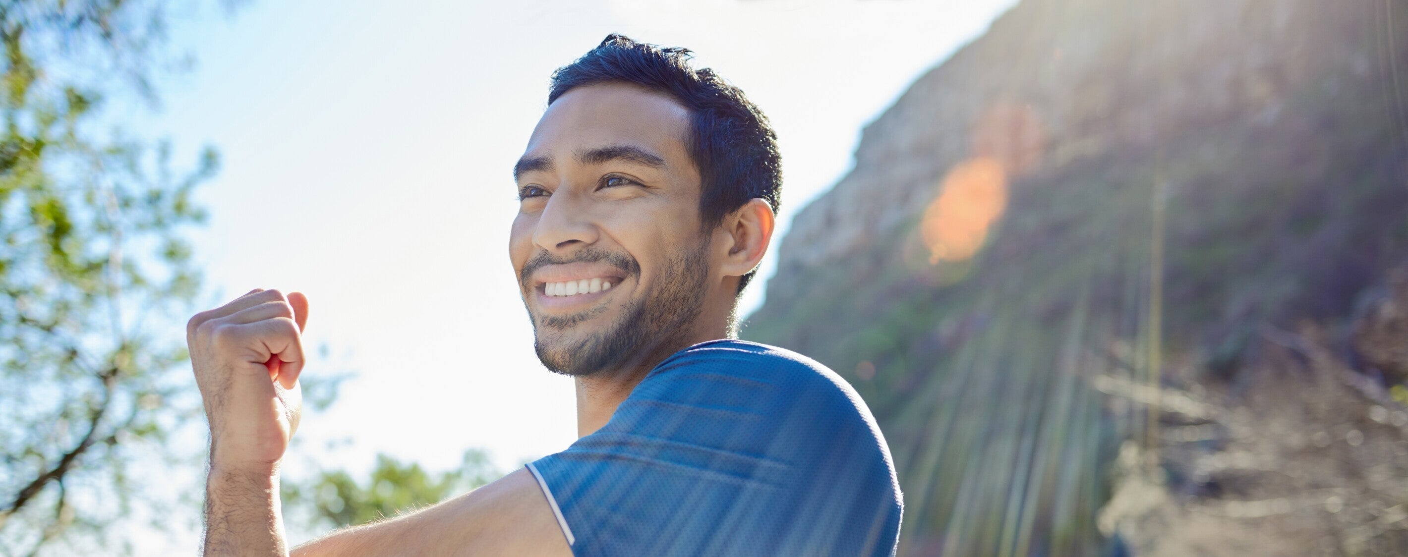
[(200, 283), (191, 196), (218, 158), (179, 170), (168, 143), (97, 129), (106, 100), (152, 104), (153, 76), (180, 65), (165, 14), (159, 0), (0, 3), (3, 554), (118, 551), (125, 529), (108, 526), (168, 522), (139, 473), (190, 461), (172, 436), (200, 401), (173, 332)]

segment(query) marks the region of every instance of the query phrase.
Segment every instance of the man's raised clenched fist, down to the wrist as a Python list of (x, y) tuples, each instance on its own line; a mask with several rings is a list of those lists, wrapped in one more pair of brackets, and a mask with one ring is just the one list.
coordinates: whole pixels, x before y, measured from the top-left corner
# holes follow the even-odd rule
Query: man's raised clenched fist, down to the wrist
[(262, 288), (190, 318), (186, 345), (210, 419), (211, 468), (277, 468), (303, 409), (307, 319), (307, 297)]

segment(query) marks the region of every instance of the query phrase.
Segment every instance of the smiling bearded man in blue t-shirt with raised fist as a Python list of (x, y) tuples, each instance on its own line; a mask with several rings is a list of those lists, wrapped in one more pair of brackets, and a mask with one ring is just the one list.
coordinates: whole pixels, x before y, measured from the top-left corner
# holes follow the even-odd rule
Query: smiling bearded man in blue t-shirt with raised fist
[[(553, 73), (514, 167), (510, 257), (538, 357), (572, 376), (566, 450), (296, 556), (887, 556), (901, 499), (869, 409), (803, 356), (734, 340), (773, 233), (767, 120), (689, 51), (610, 35)], [(210, 419), (206, 554), (284, 554), (303, 294), (187, 328)]]

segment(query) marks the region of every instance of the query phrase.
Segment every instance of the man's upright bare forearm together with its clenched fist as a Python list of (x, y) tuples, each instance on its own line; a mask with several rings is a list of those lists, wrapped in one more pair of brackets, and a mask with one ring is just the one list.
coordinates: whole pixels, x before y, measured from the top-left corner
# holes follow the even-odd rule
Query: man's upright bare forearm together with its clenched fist
[(252, 290), (186, 325), (210, 422), (206, 556), (286, 556), (279, 463), (298, 428), (303, 294)]

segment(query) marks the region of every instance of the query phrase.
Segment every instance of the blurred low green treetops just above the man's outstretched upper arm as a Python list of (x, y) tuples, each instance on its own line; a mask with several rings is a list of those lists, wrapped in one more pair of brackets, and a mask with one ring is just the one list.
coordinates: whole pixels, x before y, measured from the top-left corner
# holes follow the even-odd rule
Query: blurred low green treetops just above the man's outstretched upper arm
[(500, 475), (477, 449), (466, 450), (460, 467), (445, 473), (377, 454), (365, 482), (345, 470), (321, 471), (306, 482), (284, 481), (284, 516), (301, 516), (311, 532), (359, 526), (434, 505)]

